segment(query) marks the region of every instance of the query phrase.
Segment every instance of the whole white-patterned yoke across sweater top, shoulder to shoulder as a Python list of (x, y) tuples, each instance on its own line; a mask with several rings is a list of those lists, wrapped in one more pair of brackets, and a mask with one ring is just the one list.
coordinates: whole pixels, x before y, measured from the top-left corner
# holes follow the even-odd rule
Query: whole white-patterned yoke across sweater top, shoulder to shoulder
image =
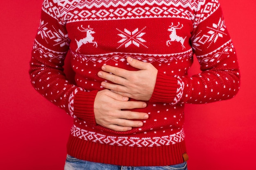
[[(211, 0), (211, 2), (207, 4), (205, 1), (206, 0), (55, 0), (53, 4), (45, 0), (42, 9), (47, 14), (56, 18), (60, 24), (65, 24), (67, 22), (82, 20), (120, 20), (152, 17), (181, 17), (193, 20), (195, 16), (191, 15), (191, 12), (181, 9), (189, 8), (190, 11), (197, 12), (194, 24), (194, 27), (196, 27), (219, 7), (218, 0)], [(130, 8), (126, 8), (128, 5), (130, 5)], [(144, 6), (144, 8), (135, 7), (136, 5)], [(148, 5), (148, 7), (145, 7), (146, 5)], [(110, 8), (118, 6), (120, 8), (115, 10)], [(159, 7), (154, 8), (153, 6)], [(171, 6), (174, 8), (168, 8)], [(98, 10), (89, 10), (92, 7), (96, 7)], [(80, 11), (79, 15), (77, 15), (78, 11), (74, 10), (71, 12), (75, 8), (85, 10)], [(203, 10), (198, 11), (199, 9)]]

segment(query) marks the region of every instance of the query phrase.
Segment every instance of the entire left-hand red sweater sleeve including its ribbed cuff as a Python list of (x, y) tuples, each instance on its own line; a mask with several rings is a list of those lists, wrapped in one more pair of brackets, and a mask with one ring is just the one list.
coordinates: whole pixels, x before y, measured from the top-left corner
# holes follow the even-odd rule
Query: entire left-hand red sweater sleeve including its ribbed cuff
[(97, 91), (86, 92), (67, 80), (63, 65), (70, 39), (61, 21), (57, 1), (43, 2), (40, 26), (30, 61), (30, 79), (34, 88), (73, 118), (96, 124), (94, 99)]

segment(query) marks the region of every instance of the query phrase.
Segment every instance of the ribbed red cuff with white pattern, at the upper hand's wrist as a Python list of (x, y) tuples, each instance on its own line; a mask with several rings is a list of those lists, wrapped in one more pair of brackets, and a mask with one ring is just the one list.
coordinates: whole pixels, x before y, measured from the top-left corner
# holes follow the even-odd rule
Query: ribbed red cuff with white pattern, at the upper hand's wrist
[(149, 101), (169, 102), (175, 105), (182, 98), (183, 90), (184, 82), (179, 76), (169, 77), (158, 72), (155, 89)]

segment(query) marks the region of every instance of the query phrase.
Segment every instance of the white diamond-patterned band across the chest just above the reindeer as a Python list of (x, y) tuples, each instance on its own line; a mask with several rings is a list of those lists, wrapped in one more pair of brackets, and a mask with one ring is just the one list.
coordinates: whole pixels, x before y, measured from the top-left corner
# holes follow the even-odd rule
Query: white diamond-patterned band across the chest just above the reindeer
[(86, 9), (79, 11), (69, 11), (63, 16), (66, 23), (78, 21), (101, 21), (101, 20), (126, 20), (140, 18), (183, 18), (192, 20), (193, 13), (179, 7), (119, 7), (117, 9), (102, 7), (100, 9)]

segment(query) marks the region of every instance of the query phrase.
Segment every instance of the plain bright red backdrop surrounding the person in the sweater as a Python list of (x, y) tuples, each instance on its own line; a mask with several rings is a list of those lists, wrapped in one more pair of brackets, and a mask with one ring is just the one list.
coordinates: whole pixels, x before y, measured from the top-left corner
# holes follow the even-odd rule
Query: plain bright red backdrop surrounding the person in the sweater
[[(62, 170), (72, 118), (40, 96), (29, 60), (43, 0), (0, 3), (0, 164), (2, 170)], [(238, 95), (187, 105), (189, 170), (254, 169), (256, 153), (254, 0), (220, 0), (241, 69)], [(190, 74), (198, 73), (195, 61)]]

